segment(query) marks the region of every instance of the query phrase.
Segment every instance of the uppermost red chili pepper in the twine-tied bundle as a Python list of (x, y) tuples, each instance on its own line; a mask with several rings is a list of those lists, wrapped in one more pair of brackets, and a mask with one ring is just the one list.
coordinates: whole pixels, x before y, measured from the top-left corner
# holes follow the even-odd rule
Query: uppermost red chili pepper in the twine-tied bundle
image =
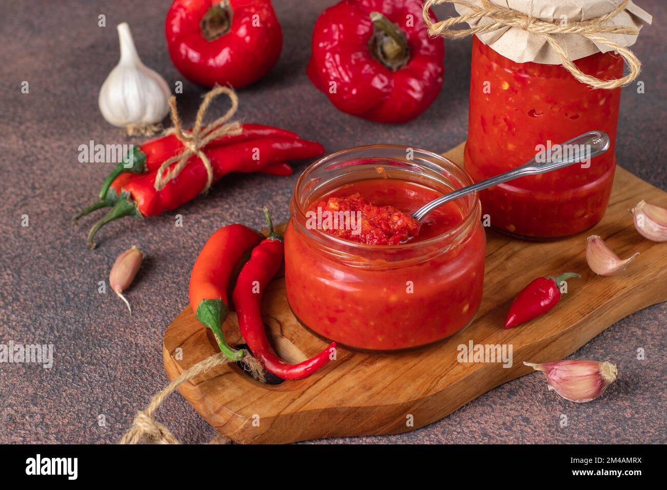
[[(261, 124), (244, 124), (241, 126), (241, 132), (237, 135), (223, 135), (211, 141), (205, 148), (232, 145), (234, 143), (250, 141), (251, 139), (275, 136), (293, 139), (298, 138), (295, 133), (280, 129), (279, 127), (264, 126)], [(106, 199), (109, 186), (118, 175), (121, 175), (121, 173), (145, 173), (146, 171), (150, 172), (157, 170), (165, 160), (170, 159), (175, 155), (179, 155), (179, 153), (183, 152), (183, 149), (185, 149), (183, 142), (175, 135), (167, 135), (151, 139), (145, 143), (141, 143), (138, 149), (134, 147), (132, 153), (132, 165), (130, 165), (129, 160), (125, 158), (111, 171), (111, 173), (109, 173), (99, 191), (99, 199)]]

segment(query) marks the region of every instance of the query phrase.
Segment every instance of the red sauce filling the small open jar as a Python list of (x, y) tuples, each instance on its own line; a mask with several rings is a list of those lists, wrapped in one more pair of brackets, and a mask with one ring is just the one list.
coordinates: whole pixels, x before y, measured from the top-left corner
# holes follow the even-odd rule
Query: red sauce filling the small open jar
[[(305, 209), (315, 211), (336, 198), (354, 210), (359, 205), (363, 211), (369, 203), (374, 211), (391, 207), (380, 213), (382, 220), (390, 220), (394, 213), (410, 215), (440, 195), (418, 183), (368, 179), (316, 196)], [(438, 239), (464, 221), (457, 201), (432, 211), (418, 235), (397, 247), (360, 241), (350, 241), (349, 249), (340, 247), (310, 236), (328, 231), (306, 233), (294, 221), (285, 231), (287, 300), (299, 321), (315, 333), (354, 349), (392, 351), (442, 340), (474, 318), (482, 299), (484, 229), (478, 219), (469, 220), (456, 239)], [(372, 257), (367, 257), (369, 251)]]

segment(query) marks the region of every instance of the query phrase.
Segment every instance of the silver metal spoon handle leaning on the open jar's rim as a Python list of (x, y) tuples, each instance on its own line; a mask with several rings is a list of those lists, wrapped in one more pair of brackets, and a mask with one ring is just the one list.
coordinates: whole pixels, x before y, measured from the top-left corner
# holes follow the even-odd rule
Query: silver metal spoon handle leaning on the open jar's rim
[[(530, 159), (521, 167), (516, 167), (516, 169), (510, 170), (508, 172), (500, 173), (495, 177), (490, 179), (483, 180), (473, 185), (468, 185), (468, 187), (463, 187), (458, 189), (458, 191), (450, 192), (438, 199), (434, 199), (430, 203), (420, 207), (417, 211), (412, 213), (412, 217), (417, 221), (420, 221), (424, 216), (428, 215), (431, 211), (436, 209), (436, 207), (442, 206), (444, 203), (458, 199), (464, 195), (481, 191), (488, 187), (498, 185), (503, 182), (511, 181), (518, 179), (518, 177), (524, 177), (525, 175), (536, 175), (538, 173), (547, 173), (554, 170), (562, 169), (568, 167), (573, 163), (578, 163), (581, 161), (587, 161), (598, 155), (602, 155), (609, 148), (609, 137), (604, 131), (588, 131), (583, 135), (579, 135), (576, 138), (570, 139), (561, 145), (554, 145), (549, 151), (541, 151), (534, 157)], [(572, 146), (569, 146), (572, 145)], [(562, 156), (558, 159), (551, 157), (558, 147), (562, 150), (572, 147), (576, 150), (573, 151), (562, 151)], [(583, 153), (583, 154), (582, 154)], [(539, 162), (538, 162), (539, 161)]]

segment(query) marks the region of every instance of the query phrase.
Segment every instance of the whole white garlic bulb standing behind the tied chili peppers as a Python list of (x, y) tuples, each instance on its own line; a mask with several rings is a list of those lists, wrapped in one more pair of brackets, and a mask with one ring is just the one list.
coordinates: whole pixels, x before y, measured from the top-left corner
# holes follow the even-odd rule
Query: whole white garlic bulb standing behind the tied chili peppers
[(169, 85), (141, 63), (129, 25), (123, 22), (117, 29), (121, 59), (99, 91), (99, 110), (104, 119), (117, 127), (159, 123), (169, 112)]

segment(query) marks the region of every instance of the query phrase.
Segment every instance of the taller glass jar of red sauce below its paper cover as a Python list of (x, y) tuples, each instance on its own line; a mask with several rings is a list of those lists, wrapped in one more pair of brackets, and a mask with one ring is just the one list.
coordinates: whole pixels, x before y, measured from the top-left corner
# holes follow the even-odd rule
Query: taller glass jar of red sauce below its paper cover
[[(588, 75), (618, 78), (623, 59), (613, 52), (574, 61)], [(538, 145), (558, 145), (602, 129), (608, 151), (590, 167), (572, 165), (522, 177), (480, 194), (492, 227), (522, 238), (552, 239), (594, 226), (606, 211), (614, 181), (620, 87), (592, 89), (562, 65), (516, 63), (474, 36), (465, 168), (478, 182), (535, 157)]]

